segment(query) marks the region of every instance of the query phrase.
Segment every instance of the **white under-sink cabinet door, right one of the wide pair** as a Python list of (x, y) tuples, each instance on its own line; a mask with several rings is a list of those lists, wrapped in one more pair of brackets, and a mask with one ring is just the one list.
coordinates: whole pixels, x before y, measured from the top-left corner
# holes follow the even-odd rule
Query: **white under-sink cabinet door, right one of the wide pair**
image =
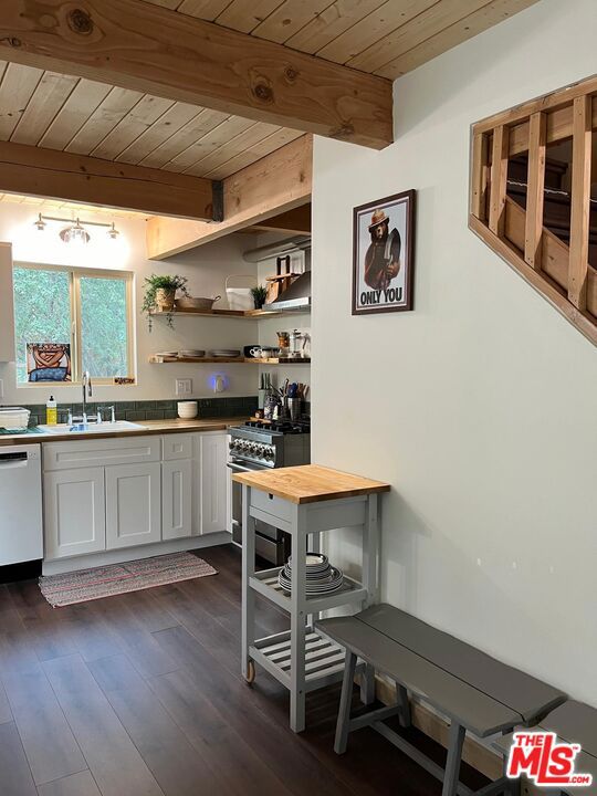
[(161, 538), (159, 462), (106, 468), (106, 547), (134, 547)]

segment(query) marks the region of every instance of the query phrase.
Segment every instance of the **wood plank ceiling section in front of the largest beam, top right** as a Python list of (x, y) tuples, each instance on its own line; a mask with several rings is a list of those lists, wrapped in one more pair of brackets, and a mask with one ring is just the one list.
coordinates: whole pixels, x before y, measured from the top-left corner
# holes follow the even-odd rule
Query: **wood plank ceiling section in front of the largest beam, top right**
[(396, 80), (537, 0), (145, 0)]

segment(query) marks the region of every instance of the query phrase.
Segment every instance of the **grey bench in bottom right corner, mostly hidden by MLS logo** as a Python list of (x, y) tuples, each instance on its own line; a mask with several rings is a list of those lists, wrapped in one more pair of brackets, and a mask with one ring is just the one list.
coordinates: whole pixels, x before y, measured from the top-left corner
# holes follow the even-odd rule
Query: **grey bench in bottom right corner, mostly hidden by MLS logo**
[[(548, 793), (555, 796), (558, 792), (570, 796), (590, 796), (597, 790), (597, 710), (583, 702), (564, 702), (549, 715), (542, 719), (538, 724), (530, 729), (531, 732), (553, 732), (558, 740), (566, 743), (578, 743), (583, 747), (575, 760), (575, 768), (582, 774), (593, 775), (591, 787), (565, 786), (561, 788), (548, 788)], [(510, 753), (513, 743), (512, 734), (503, 735), (495, 742), (494, 746), (505, 758)]]

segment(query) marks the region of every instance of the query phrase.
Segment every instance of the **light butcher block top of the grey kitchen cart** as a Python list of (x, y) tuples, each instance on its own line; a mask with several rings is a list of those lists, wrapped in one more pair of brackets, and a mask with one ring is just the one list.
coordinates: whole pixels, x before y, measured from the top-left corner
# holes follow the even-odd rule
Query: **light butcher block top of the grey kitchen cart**
[(373, 481), (320, 464), (234, 473), (232, 479), (291, 503), (317, 503), (390, 490), (390, 485), (383, 481)]

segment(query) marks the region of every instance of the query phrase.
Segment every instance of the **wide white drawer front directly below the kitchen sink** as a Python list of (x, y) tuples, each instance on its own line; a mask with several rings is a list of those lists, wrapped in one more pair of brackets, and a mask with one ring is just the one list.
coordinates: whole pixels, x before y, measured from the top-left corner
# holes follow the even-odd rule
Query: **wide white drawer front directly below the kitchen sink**
[(48, 472), (159, 461), (160, 448), (159, 437), (111, 437), (101, 440), (45, 442), (43, 469)]

